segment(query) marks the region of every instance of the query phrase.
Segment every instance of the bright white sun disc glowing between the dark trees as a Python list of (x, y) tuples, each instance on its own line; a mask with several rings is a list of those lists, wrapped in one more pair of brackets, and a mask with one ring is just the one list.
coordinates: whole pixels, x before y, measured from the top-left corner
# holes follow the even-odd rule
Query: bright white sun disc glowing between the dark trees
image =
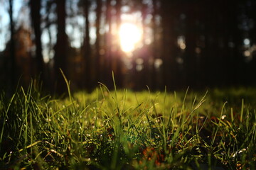
[(142, 39), (142, 30), (134, 23), (122, 23), (119, 28), (119, 40), (124, 52), (132, 52)]

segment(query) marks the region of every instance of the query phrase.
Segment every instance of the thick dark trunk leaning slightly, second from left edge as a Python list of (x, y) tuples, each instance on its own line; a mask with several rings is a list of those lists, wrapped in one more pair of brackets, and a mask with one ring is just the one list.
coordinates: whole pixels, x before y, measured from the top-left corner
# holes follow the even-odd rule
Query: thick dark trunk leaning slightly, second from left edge
[(43, 63), (43, 55), (42, 55), (42, 42), (41, 42), (41, 0), (34, 1), (30, 0), (31, 7), (31, 21), (32, 27), (35, 34), (35, 42), (36, 42), (36, 76), (41, 74), (41, 80), (45, 80), (44, 78), (44, 63)]

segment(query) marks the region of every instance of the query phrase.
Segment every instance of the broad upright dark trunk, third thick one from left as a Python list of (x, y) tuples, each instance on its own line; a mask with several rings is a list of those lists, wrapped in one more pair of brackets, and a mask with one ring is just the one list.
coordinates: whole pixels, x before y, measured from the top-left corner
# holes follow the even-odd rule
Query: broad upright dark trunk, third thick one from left
[(54, 56), (54, 69), (55, 69), (55, 81), (56, 84), (56, 93), (63, 94), (66, 86), (62, 74), (60, 74), (60, 69), (63, 70), (63, 73), (68, 77), (67, 70), (67, 52), (68, 52), (68, 36), (65, 33), (65, 0), (56, 1), (57, 9), (57, 42), (55, 45), (55, 56)]

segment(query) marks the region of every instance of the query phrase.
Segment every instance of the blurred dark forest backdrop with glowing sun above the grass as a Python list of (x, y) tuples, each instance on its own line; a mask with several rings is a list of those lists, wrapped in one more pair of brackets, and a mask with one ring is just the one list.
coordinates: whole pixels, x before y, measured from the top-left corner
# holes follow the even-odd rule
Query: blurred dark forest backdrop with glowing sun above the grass
[(0, 86), (253, 86), (254, 0), (0, 0)]

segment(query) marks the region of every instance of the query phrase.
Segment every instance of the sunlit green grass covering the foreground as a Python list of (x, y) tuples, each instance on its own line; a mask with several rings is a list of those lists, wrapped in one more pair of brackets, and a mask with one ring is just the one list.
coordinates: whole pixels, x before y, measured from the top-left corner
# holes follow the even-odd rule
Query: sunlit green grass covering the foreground
[(72, 94), (65, 81), (67, 98), (36, 81), (1, 93), (0, 169), (256, 169), (253, 88)]

